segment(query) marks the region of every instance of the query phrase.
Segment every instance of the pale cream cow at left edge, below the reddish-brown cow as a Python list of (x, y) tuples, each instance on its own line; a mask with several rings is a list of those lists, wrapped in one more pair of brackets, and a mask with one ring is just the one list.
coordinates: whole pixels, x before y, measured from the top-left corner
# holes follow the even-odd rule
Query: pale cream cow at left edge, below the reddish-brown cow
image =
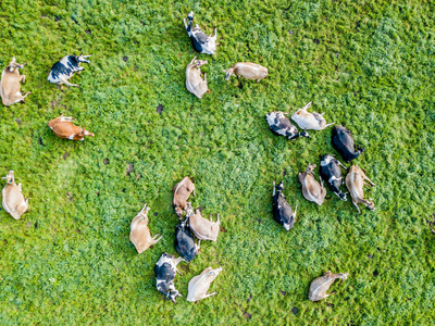
[(28, 198), (24, 198), (20, 184), (15, 184), (14, 172), (10, 171), (5, 177), (7, 185), (3, 188), (2, 205), (4, 211), (7, 211), (15, 220), (18, 220), (28, 210)]

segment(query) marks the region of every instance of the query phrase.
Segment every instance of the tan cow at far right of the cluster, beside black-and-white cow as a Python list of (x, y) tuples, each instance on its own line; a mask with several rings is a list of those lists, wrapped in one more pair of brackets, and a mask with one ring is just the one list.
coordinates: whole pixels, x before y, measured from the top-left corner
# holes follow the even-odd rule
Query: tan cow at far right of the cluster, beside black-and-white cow
[[(370, 184), (365, 184), (364, 180), (368, 180)], [(376, 186), (366, 177), (365, 173), (358, 165), (350, 166), (349, 173), (346, 176), (346, 187), (349, 189), (352, 203), (357, 208), (358, 213), (361, 213), (358, 206), (359, 203), (363, 203), (369, 210), (374, 211), (373, 200), (371, 198), (364, 199), (364, 190), (362, 189), (364, 185)]]

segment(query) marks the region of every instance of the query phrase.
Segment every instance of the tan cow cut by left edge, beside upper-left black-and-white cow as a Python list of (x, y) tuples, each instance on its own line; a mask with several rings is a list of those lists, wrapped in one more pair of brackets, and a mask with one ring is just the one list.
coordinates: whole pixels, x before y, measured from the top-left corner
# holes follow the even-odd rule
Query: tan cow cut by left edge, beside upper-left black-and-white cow
[(20, 75), (18, 70), (24, 68), (27, 62), (18, 64), (15, 61), (15, 57), (1, 73), (0, 82), (0, 96), (4, 105), (12, 105), (24, 101), (24, 99), (30, 93), (27, 91), (24, 96), (21, 93), (21, 82), (26, 82), (26, 75)]

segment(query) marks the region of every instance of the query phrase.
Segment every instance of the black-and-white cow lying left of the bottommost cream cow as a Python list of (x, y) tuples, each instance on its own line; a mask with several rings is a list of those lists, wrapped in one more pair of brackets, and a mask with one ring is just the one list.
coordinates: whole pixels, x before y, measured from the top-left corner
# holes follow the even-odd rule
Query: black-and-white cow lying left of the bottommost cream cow
[(185, 262), (185, 260), (181, 256), (175, 259), (173, 255), (163, 252), (154, 266), (157, 289), (174, 303), (176, 297), (183, 297), (174, 285), (175, 273), (183, 275), (176, 267), (179, 262)]

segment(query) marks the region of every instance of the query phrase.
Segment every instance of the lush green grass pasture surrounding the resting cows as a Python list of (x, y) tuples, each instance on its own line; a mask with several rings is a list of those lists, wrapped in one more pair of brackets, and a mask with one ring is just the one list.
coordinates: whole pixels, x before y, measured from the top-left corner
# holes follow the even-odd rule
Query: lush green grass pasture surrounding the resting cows
[[(22, 89), (33, 93), (0, 106), (0, 173), (14, 170), (30, 197), (20, 221), (0, 212), (0, 324), (432, 323), (435, 5), (389, 2), (1, 1), (1, 68), (12, 55), (27, 61)], [(185, 87), (190, 10), (220, 41), (215, 55), (198, 55), (209, 61), (202, 100)], [(79, 89), (47, 82), (55, 61), (80, 51), (92, 57), (72, 78)], [(222, 70), (238, 61), (270, 75), (225, 82)], [(322, 206), (303, 199), (297, 173), (335, 153), (331, 128), (288, 141), (264, 115), (309, 101), (365, 147), (355, 163), (377, 185), (366, 189), (376, 211), (361, 205), (359, 215), (331, 191)], [(96, 137), (57, 138), (47, 122), (61, 113)], [(184, 298), (173, 304), (153, 266), (176, 253), (172, 187), (186, 175), (194, 205), (221, 212), (226, 233), (181, 264)], [(272, 217), (272, 180), (283, 176), (298, 204), (288, 233)], [(163, 239), (138, 255), (128, 233), (145, 202)], [(219, 294), (185, 301), (207, 266), (223, 267), (210, 289)], [(336, 296), (308, 301), (310, 281), (328, 269), (349, 278), (333, 285)]]

